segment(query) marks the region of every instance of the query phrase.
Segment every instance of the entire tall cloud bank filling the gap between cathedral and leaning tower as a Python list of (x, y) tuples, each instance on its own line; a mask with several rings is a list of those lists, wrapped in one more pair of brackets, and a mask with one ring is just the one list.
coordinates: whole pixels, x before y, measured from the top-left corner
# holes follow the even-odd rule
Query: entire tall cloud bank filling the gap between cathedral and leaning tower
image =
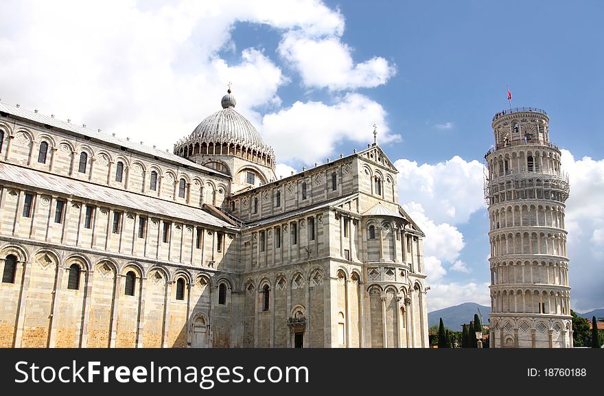
[(422, 165), (399, 159), (395, 166), (399, 170), (397, 180), (403, 207), (426, 233), (424, 263), (431, 290), (428, 310), (468, 301), (489, 305), (488, 283), (449, 279), (450, 272), (470, 272), (467, 264), (458, 259), (465, 242), (457, 224), (467, 222), (472, 213), (485, 208), (483, 165), (454, 156), (449, 161)]

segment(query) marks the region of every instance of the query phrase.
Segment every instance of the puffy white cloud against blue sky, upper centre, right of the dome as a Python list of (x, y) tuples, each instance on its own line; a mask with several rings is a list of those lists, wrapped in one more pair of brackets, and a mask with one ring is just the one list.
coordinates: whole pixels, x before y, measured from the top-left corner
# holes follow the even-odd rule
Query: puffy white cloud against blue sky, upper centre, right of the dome
[(339, 37), (312, 38), (300, 31), (283, 35), (279, 44), (279, 54), (299, 71), (305, 86), (332, 91), (372, 88), (396, 73), (393, 65), (377, 56), (355, 65), (351, 52)]

